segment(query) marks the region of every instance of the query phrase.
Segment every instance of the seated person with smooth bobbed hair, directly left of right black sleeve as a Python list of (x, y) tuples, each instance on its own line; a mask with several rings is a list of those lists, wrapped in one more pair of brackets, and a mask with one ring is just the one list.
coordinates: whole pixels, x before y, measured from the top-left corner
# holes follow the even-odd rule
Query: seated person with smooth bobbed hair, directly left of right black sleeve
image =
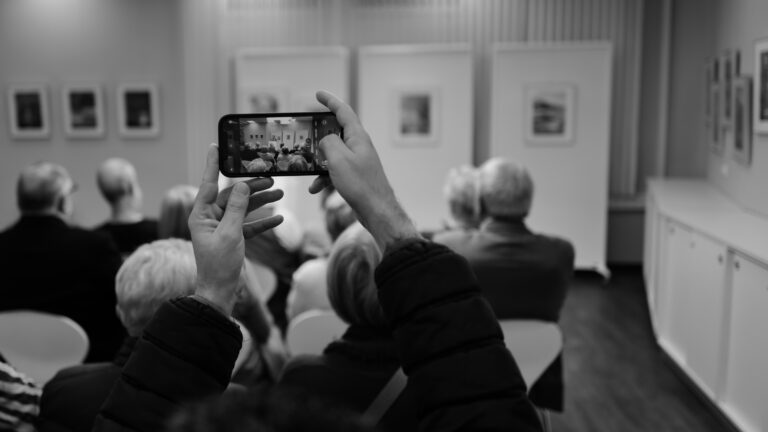
[[(374, 271), (381, 251), (362, 225), (347, 228), (328, 259), (328, 297), (349, 328), (321, 356), (289, 361), (281, 386), (297, 387), (362, 414), (400, 368), (389, 322), (377, 297)], [(416, 430), (412, 392), (397, 398), (381, 424), (386, 430)]]

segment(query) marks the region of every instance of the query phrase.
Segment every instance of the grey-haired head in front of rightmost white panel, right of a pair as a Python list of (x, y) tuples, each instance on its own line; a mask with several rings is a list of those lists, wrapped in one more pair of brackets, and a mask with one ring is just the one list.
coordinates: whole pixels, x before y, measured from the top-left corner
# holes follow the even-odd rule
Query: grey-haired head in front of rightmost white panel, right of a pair
[(493, 158), (480, 167), (480, 199), (486, 216), (522, 219), (533, 200), (533, 180), (525, 167)]

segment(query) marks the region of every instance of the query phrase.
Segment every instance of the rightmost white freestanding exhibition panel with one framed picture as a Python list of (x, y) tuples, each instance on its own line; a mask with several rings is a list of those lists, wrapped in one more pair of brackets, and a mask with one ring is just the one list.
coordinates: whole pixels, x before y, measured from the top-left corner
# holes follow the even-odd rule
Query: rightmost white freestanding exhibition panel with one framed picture
[[(531, 173), (531, 229), (570, 240), (577, 268), (606, 275), (611, 66), (609, 43), (498, 44), (491, 87), (491, 156)], [(547, 94), (566, 113), (552, 139), (532, 108)]]

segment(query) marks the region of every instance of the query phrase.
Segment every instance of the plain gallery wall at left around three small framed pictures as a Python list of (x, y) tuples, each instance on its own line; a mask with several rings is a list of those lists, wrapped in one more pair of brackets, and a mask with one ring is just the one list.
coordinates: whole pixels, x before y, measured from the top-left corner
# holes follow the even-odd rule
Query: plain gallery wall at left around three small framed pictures
[[(93, 226), (108, 216), (95, 170), (105, 159), (136, 165), (147, 214), (157, 215), (165, 190), (187, 182), (186, 122), (180, 16), (176, 1), (5, 0), (0, 2), (0, 226), (17, 216), (16, 179), (39, 160), (64, 165), (79, 186), (75, 222)], [(102, 86), (106, 133), (99, 139), (65, 137), (62, 86)], [(51, 135), (14, 140), (9, 134), (6, 89), (11, 83), (47, 86)], [(127, 140), (117, 131), (116, 89), (150, 82), (160, 96), (160, 135)]]

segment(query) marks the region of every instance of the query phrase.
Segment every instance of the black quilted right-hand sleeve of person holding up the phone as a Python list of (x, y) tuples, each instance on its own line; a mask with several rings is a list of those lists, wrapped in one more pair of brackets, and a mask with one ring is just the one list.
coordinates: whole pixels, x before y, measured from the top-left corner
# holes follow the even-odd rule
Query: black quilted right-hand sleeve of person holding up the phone
[(525, 382), (466, 260), (412, 241), (376, 270), (379, 299), (408, 386), (423, 401), (422, 431), (539, 431)]

